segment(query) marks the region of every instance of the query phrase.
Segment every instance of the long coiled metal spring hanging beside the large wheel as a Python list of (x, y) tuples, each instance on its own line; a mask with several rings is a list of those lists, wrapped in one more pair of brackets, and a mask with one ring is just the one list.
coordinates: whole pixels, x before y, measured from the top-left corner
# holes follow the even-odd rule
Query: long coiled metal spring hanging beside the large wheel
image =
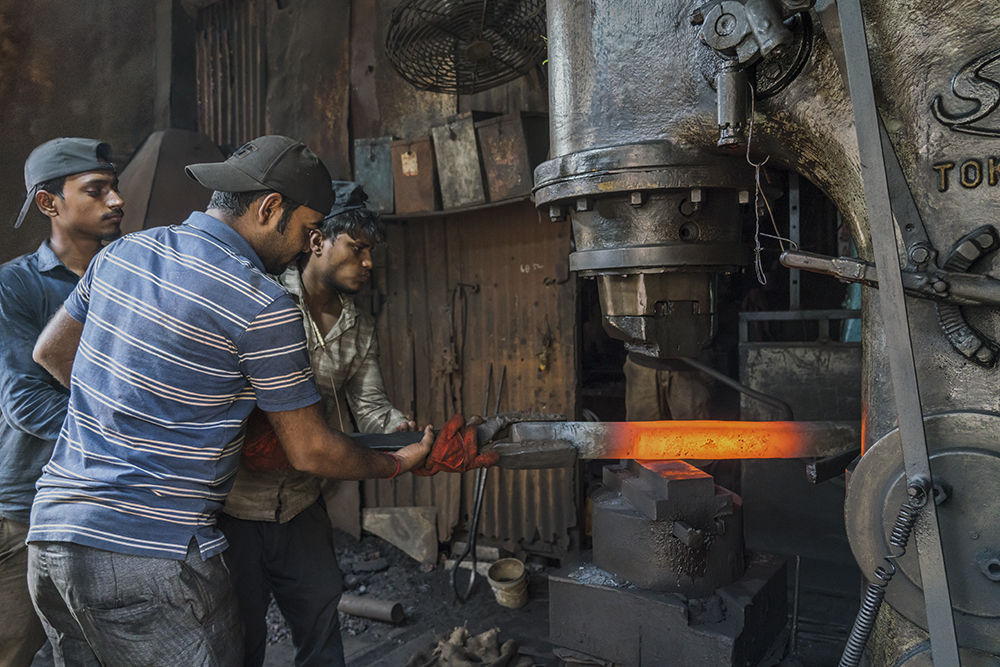
[(889, 545), (899, 549), (899, 553), (890, 552), (885, 556), (885, 566), (879, 565), (875, 568), (875, 580), (868, 582), (868, 587), (865, 589), (865, 597), (861, 601), (858, 617), (854, 620), (854, 627), (851, 628), (851, 634), (847, 638), (847, 646), (844, 647), (839, 667), (858, 667), (861, 663), (865, 645), (871, 636), (872, 628), (875, 627), (878, 611), (882, 607), (886, 588), (892, 581), (893, 575), (896, 574), (896, 564), (893, 561), (902, 558), (906, 553), (906, 544), (910, 540), (910, 533), (920, 516), (920, 510), (927, 503), (928, 494), (922, 485), (911, 484), (909, 490), (913, 493), (899, 508), (896, 523), (889, 535)]

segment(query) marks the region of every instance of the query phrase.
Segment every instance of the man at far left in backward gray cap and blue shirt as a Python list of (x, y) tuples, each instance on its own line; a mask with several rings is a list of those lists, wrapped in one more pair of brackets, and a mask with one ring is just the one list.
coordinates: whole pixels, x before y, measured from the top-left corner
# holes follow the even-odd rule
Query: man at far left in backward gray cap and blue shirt
[(28, 594), (28, 534), (35, 482), (52, 454), (69, 392), (31, 360), (45, 323), (90, 261), (121, 235), (122, 200), (111, 148), (64, 137), (24, 163), (24, 206), (49, 220), (35, 252), (0, 266), (0, 667), (27, 666), (45, 643)]

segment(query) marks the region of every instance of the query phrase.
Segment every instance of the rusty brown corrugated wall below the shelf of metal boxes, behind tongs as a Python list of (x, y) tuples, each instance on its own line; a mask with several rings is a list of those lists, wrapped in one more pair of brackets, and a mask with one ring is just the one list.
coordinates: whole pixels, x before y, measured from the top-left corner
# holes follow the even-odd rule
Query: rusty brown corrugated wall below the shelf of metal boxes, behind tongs
[[(566, 223), (539, 223), (530, 202), (392, 223), (376, 258), (386, 389), (420, 424), (482, 411), (506, 364), (500, 410), (576, 413), (576, 281)], [(492, 410), (493, 399), (490, 400)], [(482, 533), (565, 549), (576, 526), (572, 471), (494, 471)], [(409, 478), (409, 479), (407, 479)], [(468, 512), (472, 475), (365, 483), (369, 507), (429, 504), (445, 541)], [(430, 488), (425, 485), (429, 484)], [(463, 500), (464, 498), (464, 500)], [(442, 504), (445, 503), (445, 504)]]

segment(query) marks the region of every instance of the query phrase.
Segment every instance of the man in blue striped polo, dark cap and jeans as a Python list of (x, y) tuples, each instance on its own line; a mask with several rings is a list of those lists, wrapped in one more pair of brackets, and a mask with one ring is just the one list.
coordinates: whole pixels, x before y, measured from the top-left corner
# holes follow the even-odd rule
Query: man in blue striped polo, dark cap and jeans
[(324, 477), (393, 477), (431, 448), (429, 427), (386, 455), (323, 421), (302, 315), (267, 275), (333, 204), (319, 158), (268, 136), (188, 175), (215, 190), (206, 213), (108, 246), (35, 347), (71, 390), (28, 533), (58, 664), (242, 664), (215, 515), (255, 403)]

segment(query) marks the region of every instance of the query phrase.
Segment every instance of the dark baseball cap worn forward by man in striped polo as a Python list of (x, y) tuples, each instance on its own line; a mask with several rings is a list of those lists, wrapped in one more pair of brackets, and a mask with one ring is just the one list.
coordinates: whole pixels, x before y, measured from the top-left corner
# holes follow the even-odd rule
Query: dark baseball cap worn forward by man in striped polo
[(272, 134), (248, 141), (225, 162), (192, 164), (188, 176), (219, 192), (274, 190), (324, 212), (333, 206), (330, 172), (304, 143)]

